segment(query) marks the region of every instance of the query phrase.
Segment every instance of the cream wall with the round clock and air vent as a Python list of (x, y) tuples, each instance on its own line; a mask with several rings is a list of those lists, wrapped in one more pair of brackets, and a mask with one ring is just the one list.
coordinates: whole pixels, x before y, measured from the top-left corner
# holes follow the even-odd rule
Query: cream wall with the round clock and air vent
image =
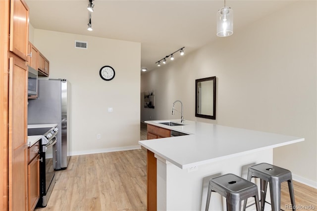
[[(35, 29), (34, 45), (50, 60), (50, 78), (71, 83), (72, 155), (139, 148), (140, 43)], [(100, 78), (104, 65), (114, 68), (113, 80)]]

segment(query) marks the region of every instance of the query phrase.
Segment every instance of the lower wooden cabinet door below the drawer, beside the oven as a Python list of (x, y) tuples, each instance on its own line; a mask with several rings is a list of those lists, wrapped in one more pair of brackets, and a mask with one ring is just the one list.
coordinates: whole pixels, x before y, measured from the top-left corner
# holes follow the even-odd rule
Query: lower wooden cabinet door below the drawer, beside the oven
[(33, 211), (40, 198), (40, 155), (28, 165), (29, 211)]

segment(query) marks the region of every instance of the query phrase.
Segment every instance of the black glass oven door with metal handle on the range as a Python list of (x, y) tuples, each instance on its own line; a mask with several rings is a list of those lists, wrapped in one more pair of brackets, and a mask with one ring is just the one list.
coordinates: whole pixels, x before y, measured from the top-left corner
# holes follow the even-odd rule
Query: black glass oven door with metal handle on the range
[[(43, 206), (46, 206), (47, 201), (52, 193), (53, 186), (55, 184), (55, 172), (53, 168), (53, 153), (55, 151), (55, 145), (57, 142), (57, 137), (55, 136), (47, 145), (43, 145), (43, 152), (44, 152), (44, 160), (45, 160), (45, 197), (43, 198)], [(44, 169), (41, 169), (41, 171)], [(44, 173), (44, 172), (43, 172)], [(44, 176), (44, 175), (43, 175)]]

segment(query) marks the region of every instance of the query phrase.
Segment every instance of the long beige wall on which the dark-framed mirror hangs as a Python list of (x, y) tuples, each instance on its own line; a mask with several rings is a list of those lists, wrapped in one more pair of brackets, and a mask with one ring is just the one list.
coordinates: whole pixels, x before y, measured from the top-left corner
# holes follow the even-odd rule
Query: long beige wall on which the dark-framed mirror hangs
[[(296, 1), (142, 75), (141, 92), (154, 89), (156, 107), (141, 107), (141, 120), (180, 118), (171, 115), (178, 99), (185, 119), (304, 137), (275, 149), (273, 163), (317, 187), (316, 7)], [(195, 79), (211, 76), (216, 120), (195, 117)]]

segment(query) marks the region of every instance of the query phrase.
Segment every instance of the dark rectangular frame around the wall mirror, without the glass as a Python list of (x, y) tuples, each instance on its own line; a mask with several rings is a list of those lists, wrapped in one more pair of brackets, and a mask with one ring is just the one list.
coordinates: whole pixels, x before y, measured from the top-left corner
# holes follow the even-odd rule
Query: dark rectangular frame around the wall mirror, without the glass
[[(212, 114), (213, 115), (207, 115), (207, 114), (202, 114), (198, 113), (198, 83), (204, 82), (204, 81), (213, 81), (213, 92), (211, 93), (212, 99), (213, 99), (213, 107), (212, 107)], [(196, 84), (195, 84), (195, 116), (197, 117), (202, 117), (202, 118), (208, 118), (208, 119), (216, 119), (216, 77), (208, 77), (208, 78), (201, 78), (201, 79), (196, 79)]]

